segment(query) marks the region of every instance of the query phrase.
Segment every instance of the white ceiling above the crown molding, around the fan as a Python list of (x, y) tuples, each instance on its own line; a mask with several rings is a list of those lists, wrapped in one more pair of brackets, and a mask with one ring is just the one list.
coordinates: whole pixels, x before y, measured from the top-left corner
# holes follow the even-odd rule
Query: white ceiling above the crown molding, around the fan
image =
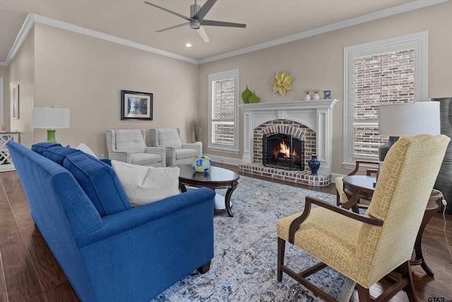
[[(189, 7), (194, 4), (194, 0), (148, 1), (184, 16), (189, 16)], [(205, 1), (199, 0), (198, 5)], [(246, 28), (205, 26), (210, 38), (206, 43), (189, 25), (156, 33), (184, 23), (184, 19), (142, 0), (0, 0), (0, 63), (6, 62), (28, 13), (199, 61), (441, 1), (446, 0), (218, 0), (206, 19), (246, 23)], [(185, 47), (186, 42), (193, 47)]]

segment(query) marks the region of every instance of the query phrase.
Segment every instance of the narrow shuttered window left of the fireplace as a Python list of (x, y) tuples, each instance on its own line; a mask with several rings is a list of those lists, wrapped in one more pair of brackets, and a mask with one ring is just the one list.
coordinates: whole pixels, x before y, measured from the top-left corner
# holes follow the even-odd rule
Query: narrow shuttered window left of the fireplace
[(239, 69), (209, 74), (209, 144), (216, 151), (239, 153)]

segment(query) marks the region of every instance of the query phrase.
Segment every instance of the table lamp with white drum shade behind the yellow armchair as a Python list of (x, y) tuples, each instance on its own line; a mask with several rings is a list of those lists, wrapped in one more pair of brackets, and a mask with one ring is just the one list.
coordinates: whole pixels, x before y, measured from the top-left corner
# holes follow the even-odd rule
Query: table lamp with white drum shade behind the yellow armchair
[(415, 102), (379, 105), (379, 135), (388, 136), (379, 146), (379, 161), (399, 137), (417, 134), (441, 134), (439, 102)]

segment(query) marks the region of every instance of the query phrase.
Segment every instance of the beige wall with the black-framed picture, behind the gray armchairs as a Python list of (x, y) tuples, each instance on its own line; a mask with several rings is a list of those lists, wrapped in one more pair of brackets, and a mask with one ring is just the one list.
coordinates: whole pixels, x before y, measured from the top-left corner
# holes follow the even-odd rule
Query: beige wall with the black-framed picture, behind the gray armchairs
[[(163, 127), (179, 127), (182, 141), (194, 141), (191, 121), (198, 105), (196, 64), (40, 23), (35, 23), (27, 40), (35, 42), (34, 102), (27, 110), (52, 105), (69, 108), (71, 127), (57, 129), (61, 144), (77, 146), (83, 142), (97, 155), (107, 157), (107, 129), (143, 128), (148, 132)], [(15, 58), (11, 70), (17, 65)], [(22, 86), (27, 83), (20, 79)], [(121, 90), (153, 93), (153, 120), (121, 121)], [(47, 139), (45, 129), (32, 129), (30, 123), (31, 119), (21, 117), (11, 125), (20, 128), (25, 146)], [(149, 145), (148, 137), (146, 140)]]

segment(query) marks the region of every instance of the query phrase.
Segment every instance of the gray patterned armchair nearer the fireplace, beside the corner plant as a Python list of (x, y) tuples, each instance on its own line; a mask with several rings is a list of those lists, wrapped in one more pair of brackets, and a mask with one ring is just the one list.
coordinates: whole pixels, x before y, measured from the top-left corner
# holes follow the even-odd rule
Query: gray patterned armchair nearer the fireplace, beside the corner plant
[(179, 128), (150, 129), (150, 146), (166, 149), (167, 165), (191, 163), (193, 158), (203, 154), (203, 143), (182, 144)]

